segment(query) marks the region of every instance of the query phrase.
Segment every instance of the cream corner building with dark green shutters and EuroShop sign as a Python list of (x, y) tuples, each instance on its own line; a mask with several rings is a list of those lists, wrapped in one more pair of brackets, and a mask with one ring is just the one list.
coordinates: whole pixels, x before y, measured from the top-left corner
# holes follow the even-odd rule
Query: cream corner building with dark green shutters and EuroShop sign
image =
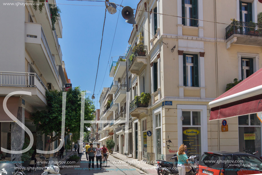
[[(181, 144), (187, 145), (189, 155), (245, 148), (261, 156), (257, 117), (229, 118), (228, 131), (222, 132), (222, 120), (209, 121), (208, 103), (223, 94), (234, 78), (245, 79), (261, 68), (257, 15), (262, 4), (257, 0), (141, 0), (137, 9), (131, 48), (110, 69), (110, 77), (118, 81), (113, 97), (113, 104), (118, 104), (115, 122), (122, 111), (128, 118), (123, 117), (122, 127), (115, 129), (124, 149), (119, 152), (130, 152), (149, 163), (169, 160)], [(132, 52), (139, 44), (139, 33), (144, 54)], [(148, 104), (135, 97), (141, 93), (150, 94)], [(126, 140), (128, 133), (132, 138)], [(255, 139), (246, 139), (244, 133), (255, 133)]]

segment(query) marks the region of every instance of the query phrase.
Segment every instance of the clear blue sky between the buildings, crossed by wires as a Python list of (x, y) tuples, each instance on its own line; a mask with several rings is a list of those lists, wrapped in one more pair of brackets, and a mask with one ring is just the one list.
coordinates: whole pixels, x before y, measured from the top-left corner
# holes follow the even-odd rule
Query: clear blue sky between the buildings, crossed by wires
[[(122, 0), (112, 2), (121, 4)], [(88, 96), (91, 98), (97, 72), (105, 17), (105, 2), (56, 0), (56, 3), (60, 3), (57, 6), (61, 9), (60, 16), (63, 25), (63, 38), (59, 38), (59, 44), (63, 53), (67, 76), (71, 79), (73, 87), (81, 86), (81, 90), (87, 90)], [(137, 3), (139, 3), (139, 0), (123, 0), (122, 5), (136, 9)], [(79, 5), (103, 5), (103, 7)], [(119, 8), (120, 7), (117, 7), (117, 9)], [(121, 7), (121, 10), (122, 9)], [(109, 87), (113, 81), (113, 78), (109, 77), (112, 59), (113, 61), (117, 61), (118, 57), (114, 56), (125, 53), (133, 29), (132, 24), (125, 22), (121, 12), (119, 13), (117, 23), (118, 13), (119, 10), (113, 15), (108, 12), (106, 13), (103, 43), (95, 86), (94, 101), (95, 106), (98, 108), (99, 103), (97, 101), (99, 100), (103, 87)], [(110, 55), (116, 24), (117, 29)], [(111, 59), (111, 57), (113, 58)], [(105, 79), (103, 81), (104, 76)]]

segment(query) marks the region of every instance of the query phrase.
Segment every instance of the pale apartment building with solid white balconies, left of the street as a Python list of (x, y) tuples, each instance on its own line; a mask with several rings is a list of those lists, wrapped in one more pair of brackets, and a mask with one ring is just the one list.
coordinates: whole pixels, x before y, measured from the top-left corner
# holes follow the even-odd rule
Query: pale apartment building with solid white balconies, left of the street
[[(55, 3), (55, 0), (49, 2)], [(61, 19), (59, 17), (54, 25), (55, 30), (52, 30), (48, 3), (44, 3), (42, 13), (28, 4), (2, 4), (0, 11), (12, 14), (1, 18), (4, 25), (0, 29), (0, 144), (8, 150), (21, 150), (24, 137), (28, 137), (25, 130), (3, 110), (3, 100), (9, 93), (26, 91), (31, 95), (13, 94), (7, 101), (7, 108), (33, 133), (33, 149), (43, 150), (45, 142), (54, 133), (42, 135), (41, 131), (37, 131), (32, 124), (31, 113), (45, 109), (45, 92), (48, 89), (62, 89), (64, 83), (70, 83), (58, 42), (58, 38), (62, 38)], [(58, 141), (50, 149), (57, 146)], [(20, 160), (19, 155), (15, 156)]]

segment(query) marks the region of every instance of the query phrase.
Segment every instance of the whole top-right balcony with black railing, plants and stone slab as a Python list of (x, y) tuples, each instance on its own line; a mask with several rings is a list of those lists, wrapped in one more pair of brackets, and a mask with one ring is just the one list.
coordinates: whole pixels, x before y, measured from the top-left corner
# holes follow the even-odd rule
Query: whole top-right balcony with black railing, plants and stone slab
[(262, 24), (235, 21), (226, 27), (227, 49), (232, 44), (262, 46)]

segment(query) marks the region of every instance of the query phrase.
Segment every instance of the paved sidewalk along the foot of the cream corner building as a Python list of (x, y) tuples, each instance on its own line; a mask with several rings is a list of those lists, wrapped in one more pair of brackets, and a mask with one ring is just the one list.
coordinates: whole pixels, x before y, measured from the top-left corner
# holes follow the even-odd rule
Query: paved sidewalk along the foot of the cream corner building
[[(138, 168), (139, 170), (141, 170), (141, 171), (143, 171), (147, 174), (157, 175), (156, 166), (154, 166), (154, 165), (147, 164), (146, 162), (140, 161), (140, 160), (137, 160), (137, 159), (127, 158), (126, 155), (119, 154), (117, 152), (113, 152), (113, 154), (110, 154), (110, 156), (113, 156), (114, 158), (125, 161), (128, 164), (130, 164), (131, 166), (134, 166), (135, 168)], [(110, 157), (109, 157), (109, 159), (110, 159)]]

